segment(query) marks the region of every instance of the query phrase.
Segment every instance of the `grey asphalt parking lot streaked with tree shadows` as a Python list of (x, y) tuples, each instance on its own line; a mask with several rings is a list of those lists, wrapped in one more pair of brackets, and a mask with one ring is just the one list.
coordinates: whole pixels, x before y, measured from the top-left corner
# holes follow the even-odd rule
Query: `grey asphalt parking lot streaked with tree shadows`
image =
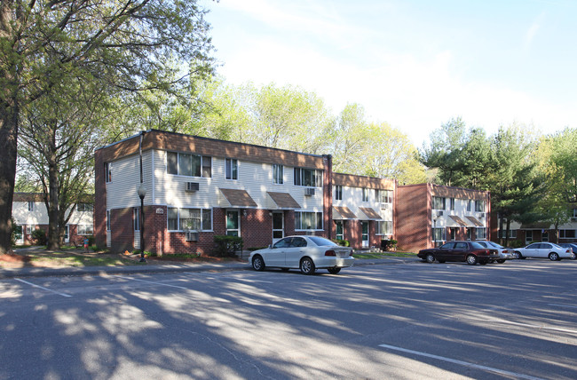
[(527, 259), (6, 279), (0, 379), (574, 379), (575, 273)]

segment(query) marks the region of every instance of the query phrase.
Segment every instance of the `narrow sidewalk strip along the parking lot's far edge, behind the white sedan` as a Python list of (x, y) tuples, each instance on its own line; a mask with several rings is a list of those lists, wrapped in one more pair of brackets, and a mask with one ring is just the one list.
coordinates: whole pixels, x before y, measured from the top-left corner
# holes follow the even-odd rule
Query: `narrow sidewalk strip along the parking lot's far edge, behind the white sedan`
[[(364, 265), (393, 265), (416, 263), (416, 257), (387, 257), (378, 259), (357, 259), (355, 266)], [(83, 266), (83, 267), (24, 267), (0, 268), (0, 280), (14, 277), (47, 277), (47, 276), (100, 276), (106, 274), (133, 274), (133, 273), (178, 273), (178, 272), (225, 272), (252, 270), (248, 261), (226, 261), (223, 263), (177, 263), (165, 262), (159, 264), (150, 260), (141, 265), (115, 266)]]

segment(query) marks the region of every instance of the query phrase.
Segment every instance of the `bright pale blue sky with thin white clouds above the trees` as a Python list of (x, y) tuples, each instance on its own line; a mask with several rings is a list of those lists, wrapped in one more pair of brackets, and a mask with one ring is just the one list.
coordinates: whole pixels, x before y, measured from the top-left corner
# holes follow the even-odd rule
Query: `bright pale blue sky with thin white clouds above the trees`
[(455, 117), (577, 127), (577, 0), (201, 0), (226, 83), (293, 85), (415, 146)]

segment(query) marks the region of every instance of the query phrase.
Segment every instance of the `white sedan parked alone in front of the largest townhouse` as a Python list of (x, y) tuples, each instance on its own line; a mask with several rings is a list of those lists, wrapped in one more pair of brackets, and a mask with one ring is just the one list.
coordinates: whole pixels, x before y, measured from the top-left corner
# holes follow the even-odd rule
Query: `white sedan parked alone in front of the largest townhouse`
[(300, 269), (304, 274), (312, 274), (316, 269), (328, 269), (336, 274), (341, 268), (352, 266), (352, 248), (341, 247), (320, 236), (287, 236), (265, 249), (250, 254), (249, 263), (256, 271), (265, 267)]

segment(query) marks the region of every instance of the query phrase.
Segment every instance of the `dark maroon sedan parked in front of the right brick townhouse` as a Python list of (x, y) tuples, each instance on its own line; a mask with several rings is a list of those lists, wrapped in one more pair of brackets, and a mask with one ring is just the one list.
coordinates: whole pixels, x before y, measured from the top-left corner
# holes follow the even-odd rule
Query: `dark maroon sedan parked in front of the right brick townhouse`
[(421, 249), (416, 255), (427, 263), (435, 260), (439, 263), (446, 261), (466, 261), (467, 264), (486, 264), (499, 258), (497, 249), (486, 249), (475, 241), (449, 241), (439, 248)]

